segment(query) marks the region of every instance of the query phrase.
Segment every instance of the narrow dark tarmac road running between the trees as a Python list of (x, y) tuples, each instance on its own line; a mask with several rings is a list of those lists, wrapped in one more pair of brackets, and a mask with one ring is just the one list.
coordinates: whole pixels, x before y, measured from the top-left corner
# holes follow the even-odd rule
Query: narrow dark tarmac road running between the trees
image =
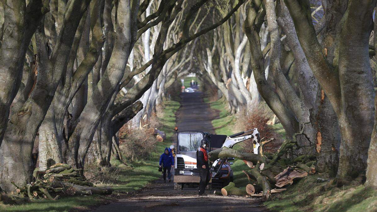
[[(211, 120), (218, 116), (218, 112), (211, 109), (203, 101), (201, 92), (182, 93), (181, 107), (177, 113), (179, 131), (198, 130), (215, 133)], [(176, 138), (175, 146), (176, 146)], [(216, 188), (220, 189), (220, 188)], [(115, 203), (100, 206), (95, 211), (265, 211), (266, 209), (255, 203), (253, 198), (223, 197), (206, 191), (207, 197), (199, 197), (196, 188), (184, 187), (174, 190), (172, 182), (164, 183), (162, 176), (141, 191), (129, 198)]]

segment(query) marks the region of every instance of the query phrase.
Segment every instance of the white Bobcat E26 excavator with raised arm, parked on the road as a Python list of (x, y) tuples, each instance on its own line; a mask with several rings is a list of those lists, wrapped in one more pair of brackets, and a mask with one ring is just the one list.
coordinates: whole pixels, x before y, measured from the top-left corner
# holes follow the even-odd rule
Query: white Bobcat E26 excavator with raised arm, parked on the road
[[(199, 172), (196, 170), (196, 151), (200, 146), (200, 141), (207, 138), (207, 151), (213, 151), (221, 147), (233, 148), (234, 144), (251, 139), (253, 141), (254, 154), (258, 154), (260, 146), (260, 136), (257, 128), (249, 131), (239, 132), (234, 135), (215, 135), (202, 131), (180, 131), (175, 128), (177, 135), (177, 149), (175, 157), (174, 189), (180, 190), (184, 184), (195, 187), (199, 184)], [(247, 135), (244, 135), (247, 134)], [(211, 183), (221, 183), (227, 185), (233, 181), (233, 171), (229, 162), (234, 158), (221, 158), (213, 162), (211, 172), (212, 178), (207, 189), (211, 188)]]

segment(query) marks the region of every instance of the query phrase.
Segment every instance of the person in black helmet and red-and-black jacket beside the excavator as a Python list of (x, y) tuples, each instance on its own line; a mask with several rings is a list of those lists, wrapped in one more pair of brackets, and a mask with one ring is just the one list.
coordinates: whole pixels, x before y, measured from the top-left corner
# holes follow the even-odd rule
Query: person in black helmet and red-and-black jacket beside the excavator
[(200, 141), (200, 147), (198, 151), (196, 151), (196, 167), (198, 168), (199, 175), (200, 175), (200, 183), (199, 183), (199, 196), (207, 196), (204, 194), (205, 187), (208, 185), (208, 182), (211, 179), (210, 169), (208, 166), (208, 154), (205, 150), (205, 147), (208, 145), (208, 140), (203, 138)]

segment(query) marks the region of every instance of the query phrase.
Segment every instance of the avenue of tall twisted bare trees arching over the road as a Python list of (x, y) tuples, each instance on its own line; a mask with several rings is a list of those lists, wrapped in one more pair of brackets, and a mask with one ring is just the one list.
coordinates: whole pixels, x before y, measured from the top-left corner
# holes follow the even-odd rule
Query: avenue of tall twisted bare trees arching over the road
[(190, 72), (232, 113), (267, 103), (318, 172), (377, 187), (376, 3), (4, 0), (0, 187), (36, 163), (109, 166), (120, 128), (143, 127)]

